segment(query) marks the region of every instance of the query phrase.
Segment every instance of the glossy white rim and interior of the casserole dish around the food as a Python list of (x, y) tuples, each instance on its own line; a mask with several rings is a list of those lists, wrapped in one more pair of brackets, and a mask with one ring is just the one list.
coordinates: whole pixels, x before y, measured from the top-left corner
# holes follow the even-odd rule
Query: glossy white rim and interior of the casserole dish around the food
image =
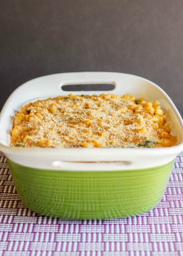
[[(114, 84), (110, 91), (63, 91), (68, 84)], [(12, 116), (30, 101), (59, 95), (129, 93), (136, 98), (159, 101), (177, 136), (169, 148), (17, 148), (10, 147)], [(138, 76), (113, 72), (60, 73), (38, 77), (18, 87), (6, 101), (0, 115), (0, 150), (21, 165), (54, 170), (143, 169), (171, 162), (183, 150), (183, 121), (170, 97), (153, 82)], [(82, 163), (83, 162), (83, 163)], [(89, 163), (86, 163), (89, 162)], [(94, 163), (95, 162), (95, 163)], [(96, 163), (98, 162), (98, 163)], [(106, 163), (105, 163), (106, 162)], [(110, 163), (109, 163), (110, 162)]]

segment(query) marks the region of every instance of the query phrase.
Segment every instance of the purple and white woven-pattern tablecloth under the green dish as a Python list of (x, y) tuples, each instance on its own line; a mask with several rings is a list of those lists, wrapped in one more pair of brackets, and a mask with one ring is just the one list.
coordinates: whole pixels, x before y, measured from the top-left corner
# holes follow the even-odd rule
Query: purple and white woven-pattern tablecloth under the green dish
[(27, 209), (0, 153), (0, 256), (183, 255), (183, 153), (161, 202), (138, 217), (62, 220)]

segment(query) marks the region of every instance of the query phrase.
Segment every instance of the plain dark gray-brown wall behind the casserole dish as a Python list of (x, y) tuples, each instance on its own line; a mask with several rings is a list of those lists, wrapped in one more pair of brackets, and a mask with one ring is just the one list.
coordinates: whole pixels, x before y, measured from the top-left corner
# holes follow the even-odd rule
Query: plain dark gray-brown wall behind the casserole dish
[(1, 0), (0, 109), (32, 78), (117, 71), (159, 84), (183, 115), (183, 1)]

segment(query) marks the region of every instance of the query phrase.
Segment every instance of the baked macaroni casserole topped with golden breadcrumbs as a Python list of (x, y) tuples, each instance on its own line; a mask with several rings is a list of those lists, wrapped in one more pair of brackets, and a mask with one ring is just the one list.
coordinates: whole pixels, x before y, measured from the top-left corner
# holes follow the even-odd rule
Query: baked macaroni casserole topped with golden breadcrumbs
[(59, 96), (21, 107), (11, 130), (11, 146), (170, 147), (177, 137), (158, 101), (129, 94)]

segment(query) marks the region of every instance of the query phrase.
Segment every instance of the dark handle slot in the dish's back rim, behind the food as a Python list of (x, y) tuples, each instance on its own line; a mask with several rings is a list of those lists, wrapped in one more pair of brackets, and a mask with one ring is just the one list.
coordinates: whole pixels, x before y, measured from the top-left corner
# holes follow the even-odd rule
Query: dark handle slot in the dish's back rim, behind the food
[(115, 83), (105, 84), (65, 84), (61, 86), (63, 91), (112, 91)]

